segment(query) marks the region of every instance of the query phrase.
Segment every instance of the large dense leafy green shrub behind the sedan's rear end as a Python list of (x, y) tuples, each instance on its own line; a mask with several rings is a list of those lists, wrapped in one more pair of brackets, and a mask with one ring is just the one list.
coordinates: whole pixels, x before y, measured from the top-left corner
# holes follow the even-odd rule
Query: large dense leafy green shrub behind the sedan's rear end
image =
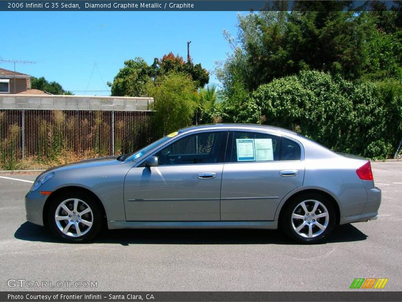
[(402, 86), (396, 81), (352, 83), (302, 71), (261, 85), (249, 100), (279, 126), (337, 152), (389, 158), (402, 138)]

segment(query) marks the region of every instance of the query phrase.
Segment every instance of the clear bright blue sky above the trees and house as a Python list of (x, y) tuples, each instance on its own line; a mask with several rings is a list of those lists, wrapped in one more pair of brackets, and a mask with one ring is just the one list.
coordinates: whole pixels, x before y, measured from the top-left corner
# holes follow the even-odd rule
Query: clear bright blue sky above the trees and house
[[(0, 12), (0, 20), (8, 24), (0, 58), (34, 61), (16, 70), (76, 95), (109, 95), (102, 90), (124, 60), (139, 56), (150, 64), (169, 51), (186, 58), (188, 40), (193, 62), (213, 70), (230, 51), (223, 29), (237, 34), (236, 12)], [(214, 75), (210, 82), (217, 83)]]

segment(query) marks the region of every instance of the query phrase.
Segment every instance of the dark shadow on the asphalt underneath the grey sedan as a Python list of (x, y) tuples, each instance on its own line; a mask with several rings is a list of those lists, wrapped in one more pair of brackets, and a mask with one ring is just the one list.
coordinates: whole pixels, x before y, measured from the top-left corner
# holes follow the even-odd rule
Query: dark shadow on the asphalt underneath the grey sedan
[[(23, 223), (15, 232), (14, 237), (25, 241), (39, 241), (63, 243), (58, 240), (47, 228)], [(363, 241), (367, 235), (352, 224), (339, 225), (330, 238), (319, 244)], [(294, 245), (282, 232), (277, 230), (240, 230), (240, 229), (204, 229), (204, 230), (176, 230), (176, 229), (138, 229), (138, 230), (105, 230), (90, 243), (120, 244), (277, 244)], [(89, 244), (90, 244), (89, 243)]]

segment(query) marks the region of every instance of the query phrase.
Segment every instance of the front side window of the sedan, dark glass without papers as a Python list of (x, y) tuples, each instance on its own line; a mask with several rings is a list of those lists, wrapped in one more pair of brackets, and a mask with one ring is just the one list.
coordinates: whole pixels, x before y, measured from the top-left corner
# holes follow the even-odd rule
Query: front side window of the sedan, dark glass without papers
[(160, 150), (158, 165), (223, 163), (228, 132), (204, 132), (187, 135)]

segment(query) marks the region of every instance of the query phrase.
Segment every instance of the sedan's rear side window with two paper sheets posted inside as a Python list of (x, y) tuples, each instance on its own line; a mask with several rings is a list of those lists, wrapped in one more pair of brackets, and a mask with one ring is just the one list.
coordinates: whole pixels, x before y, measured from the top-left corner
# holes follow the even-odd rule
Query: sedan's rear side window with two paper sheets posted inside
[(300, 160), (300, 146), (287, 138), (259, 132), (233, 131), (227, 162), (271, 162)]

